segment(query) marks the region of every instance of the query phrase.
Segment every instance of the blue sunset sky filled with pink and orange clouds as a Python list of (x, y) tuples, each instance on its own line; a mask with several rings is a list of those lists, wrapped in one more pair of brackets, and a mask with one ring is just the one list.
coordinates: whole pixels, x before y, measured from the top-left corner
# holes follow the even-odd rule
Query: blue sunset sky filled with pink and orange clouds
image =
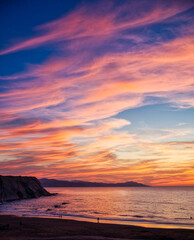
[(0, 174), (194, 185), (194, 1), (3, 0)]

